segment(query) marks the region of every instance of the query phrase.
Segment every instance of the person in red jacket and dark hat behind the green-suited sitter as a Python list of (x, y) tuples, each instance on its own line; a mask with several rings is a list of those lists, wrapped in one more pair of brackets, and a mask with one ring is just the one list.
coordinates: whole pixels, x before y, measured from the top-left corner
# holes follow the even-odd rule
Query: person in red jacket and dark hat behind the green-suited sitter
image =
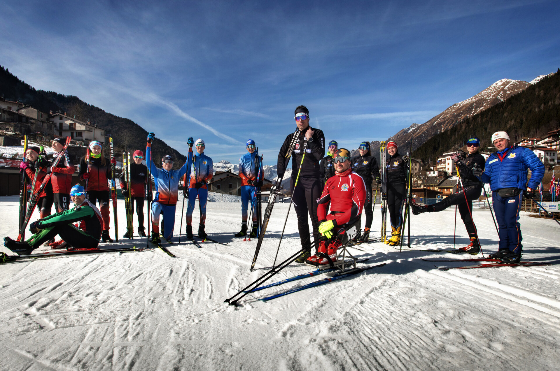
[(54, 150), (52, 154), (53, 163), (59, 156), (62, 156), (57, 166), (50, 166), (47, 173), (52, 172), (50, 176), (50, 184), (53, 186), (54, 206), (57, 213), (68, 210), (70, 202), (70, 189), (72, 188), (72, 174), (76, 170), (67, 151), (63, 151), (66, 138), (54, 138), (51, 147)]

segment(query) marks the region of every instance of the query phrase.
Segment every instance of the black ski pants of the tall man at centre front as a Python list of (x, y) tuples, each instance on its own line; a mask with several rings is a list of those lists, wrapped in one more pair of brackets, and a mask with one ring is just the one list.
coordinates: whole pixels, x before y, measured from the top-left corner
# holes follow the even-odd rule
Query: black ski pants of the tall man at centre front
[(311, 250), (311, 237), (309, 235), (309, 222), (307, 215), (311, 218), (313, 228), (313, 239), (315, 249), (319, 247), (319, 220), (317, 218), (317, 200), (321, 197), (321, 181), (319, 177), (302, 177), (297, 181), (294, 189), (293, 185), (296, 177), (290, 179), (292, 192), (293, 208), (297, 215), (297, 229), (300, 232), (301, 247)]

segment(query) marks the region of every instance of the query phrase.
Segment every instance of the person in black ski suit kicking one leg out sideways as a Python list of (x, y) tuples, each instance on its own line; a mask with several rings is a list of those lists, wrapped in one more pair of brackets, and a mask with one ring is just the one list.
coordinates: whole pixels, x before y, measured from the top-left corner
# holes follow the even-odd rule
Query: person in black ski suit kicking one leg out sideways
[[(480, 251), (480, 243), (478, 242), (471, 212), (473, 210), (473, 200), (478, 199), (482, 192), (482, 182), (473, 175), (472, 169), (478, 165), (479, 168), (484, 170), (484, 165), (486, 164), (484, 156), (478, 153), (479, 145), (480, 139), (477, 137), (470, 138), (466, 143), (466, 149), (469, 152), (468, 156), (462, 159), (458, 153), (451, 156), (451, 159), (455, 161), (455, 164), (459, 167), (461, 182), (463, 182), (463, 187), (465, 187), (464, 193), (462, 189), (458, 191), (457, 186), (455, 186), (450, 196), (436, 204), (419, 206), (414, 202), (411, 203), (412, 213), (414, 215), (424, 212), (441, 212), (441, 210), (445, 210), (451, 205), (458, 205), (459, 214), (461, 214), (461, 219), (463, 219), (463, 223), (465, 223), (466, 232), (469, 233), (470, 238), (470, 245), (461, 247), (459, 250), (472, 253)], [(466, 200), (469, 202), (468, 204), (465, 200), (465, 195)]]

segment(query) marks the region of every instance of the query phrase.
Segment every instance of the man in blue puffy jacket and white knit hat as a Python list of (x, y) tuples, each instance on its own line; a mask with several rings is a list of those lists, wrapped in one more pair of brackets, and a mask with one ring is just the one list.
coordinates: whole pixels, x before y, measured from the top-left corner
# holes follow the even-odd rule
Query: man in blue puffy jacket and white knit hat
[[(492, 189), (494, 213), (498, 222), (500, 242), (498, 252), (489, 255), (503, 262), (517, 263), (521, 260), (521, 229), (519, 210), (521, 199), (535, 195), (534, 189), (544, 175), (544, 165), (539, 158), (526, 147), (511, 145), (506, 132), (492, 134), (492, 144), (498, 149), (486, 160), (484, 172), (477, 168), (473, 174)], [(531, 179), (527, 181), (527, 169), (531, 170)]]

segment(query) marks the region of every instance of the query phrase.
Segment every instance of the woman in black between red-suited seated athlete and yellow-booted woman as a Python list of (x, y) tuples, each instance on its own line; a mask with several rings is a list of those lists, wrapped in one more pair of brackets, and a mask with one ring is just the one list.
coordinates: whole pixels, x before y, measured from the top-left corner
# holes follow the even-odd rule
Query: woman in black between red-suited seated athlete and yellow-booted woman
[(378, 183), (381, 182), (381, 178), (379, 177), (377, 159), (371, 156), (370, 142), (360, 143), (358, 151), (360, 151), (360, 155), (352, 158), (352, 171), (360, 175), (366, 183), (366, 203), (363, 205), (363, 209), (366, 212), (366, 225), (365, 228), (363, 228), (362, 234), (362, 241), (366, 241), (370, 238), (371, 222), (374, 220), (371, 184), (374, 179)]

